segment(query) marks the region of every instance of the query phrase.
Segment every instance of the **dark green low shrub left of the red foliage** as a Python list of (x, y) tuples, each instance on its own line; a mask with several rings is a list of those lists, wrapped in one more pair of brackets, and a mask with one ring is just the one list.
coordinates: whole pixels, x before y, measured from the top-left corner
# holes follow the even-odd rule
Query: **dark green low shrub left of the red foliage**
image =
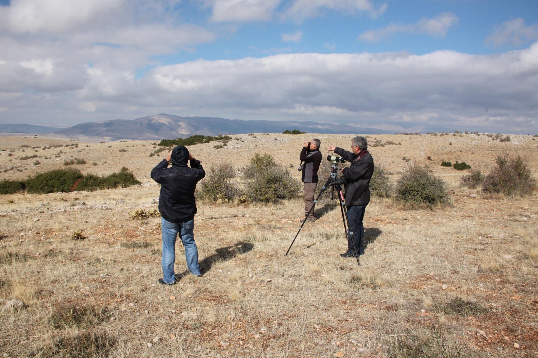
[(26, 180), (26, 191), (30, 194), (68, 192), (82, 177), (82, 173), (77, 169), (50, 170)]

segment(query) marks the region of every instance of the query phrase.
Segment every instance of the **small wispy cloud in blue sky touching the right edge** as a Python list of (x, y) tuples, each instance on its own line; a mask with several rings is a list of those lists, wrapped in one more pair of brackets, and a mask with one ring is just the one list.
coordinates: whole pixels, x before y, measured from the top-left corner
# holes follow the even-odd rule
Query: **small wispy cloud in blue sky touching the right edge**
[(503, 44), (521, 46), (535, 40), (538, 40), (538, 23), (527, 26), (524, 19), (517, 18), (498, 26), (497, 30), (486, 39), (486, 43), (494, 46)]

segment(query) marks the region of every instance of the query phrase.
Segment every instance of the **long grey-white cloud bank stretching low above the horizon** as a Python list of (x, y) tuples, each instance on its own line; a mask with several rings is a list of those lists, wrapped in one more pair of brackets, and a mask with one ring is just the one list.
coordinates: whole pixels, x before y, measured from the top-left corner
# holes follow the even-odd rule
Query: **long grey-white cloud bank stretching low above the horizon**
[[(109, 58), (118, 51), (103, 50)], [(49, 120), (88, 121), (171, 112), (504, 133), (538, 128), (538, 42), (497, 55), (307, 53), (197, 60), (155, 67), (139, 80), (116, 65), (69, 72), (53, 62), (47, 74), (47, 62), (26, 68), (2, 61), (2, 89), (10, 94), (0, 92), (0, 107), (25, 118), (46, 112)]]

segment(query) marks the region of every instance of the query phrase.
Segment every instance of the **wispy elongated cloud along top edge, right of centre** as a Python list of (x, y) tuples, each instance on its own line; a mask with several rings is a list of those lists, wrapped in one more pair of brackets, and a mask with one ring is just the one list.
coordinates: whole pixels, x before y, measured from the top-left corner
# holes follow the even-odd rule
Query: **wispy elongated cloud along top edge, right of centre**
[(366, 12), (372, 17), (384, 13), (387, 4), (376, 9), (370, 0), (295, 0), (282, 14), (284, 19), (302, 22), (306, 18), (321, 16), (323, 10), (345, 13)]

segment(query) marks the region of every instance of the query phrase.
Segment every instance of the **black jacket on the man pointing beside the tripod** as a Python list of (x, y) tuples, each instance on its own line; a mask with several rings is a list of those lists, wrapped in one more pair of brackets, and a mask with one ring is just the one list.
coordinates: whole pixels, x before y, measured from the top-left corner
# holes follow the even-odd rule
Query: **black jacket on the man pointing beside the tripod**
[(355, 161), (359, 155), (336, 148), (335, 153), (351, 162), (349, 168), (344, 168), (342, 174), (347, 180), (344, 185), (345, 205), (367, 205), (370, 203), (370, 179), (373, 174), (373, 158), (370, 153), (364, 154)]

